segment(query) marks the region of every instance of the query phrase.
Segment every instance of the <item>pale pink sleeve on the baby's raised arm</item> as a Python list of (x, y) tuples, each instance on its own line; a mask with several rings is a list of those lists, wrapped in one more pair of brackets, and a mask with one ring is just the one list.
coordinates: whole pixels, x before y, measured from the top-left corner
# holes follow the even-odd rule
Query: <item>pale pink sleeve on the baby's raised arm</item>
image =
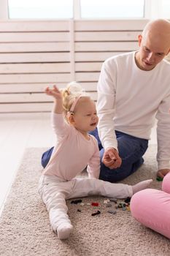
[(69, 132), (69, 124), (63, 118), (63, 114), (51, 113), (53, 131), (58, 138), (63, 138)]

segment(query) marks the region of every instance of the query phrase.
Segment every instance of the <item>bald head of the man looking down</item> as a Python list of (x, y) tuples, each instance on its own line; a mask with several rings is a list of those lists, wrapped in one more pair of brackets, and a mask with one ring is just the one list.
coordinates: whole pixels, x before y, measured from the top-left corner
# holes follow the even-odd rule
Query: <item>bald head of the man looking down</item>
[(153, 69), (170, 52), (169, 20), (153, 20), (139, 34), (136, 65), (146, 71)]

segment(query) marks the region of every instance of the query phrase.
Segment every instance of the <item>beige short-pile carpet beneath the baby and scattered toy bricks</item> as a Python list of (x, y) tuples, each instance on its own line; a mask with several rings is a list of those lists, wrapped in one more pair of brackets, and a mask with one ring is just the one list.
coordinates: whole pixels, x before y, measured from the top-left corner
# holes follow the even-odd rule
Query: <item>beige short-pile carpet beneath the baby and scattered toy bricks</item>
[[(67, 241), (59, 241), (50, 229), (46, 208), (39, 198), (37, 184), (41, 173), (39, 159), (45, 148), (28, 148), (12, 185), (0, 222), (1, 256), (161, 256), (170, 255), (169, 239), (140, 225), (130, 211), (117, 210), (109, 214), (104, 197), (85, 197), (85, 206), (71, 204), (69, 217), (74, 232)], [(145, 164), (134, 175), (124, 180), (135, 184), (146, 178), (154, 178), (156, 146), (151, 146), (145, 155)], [(151, 187), (160, 188), (153, 182)], [(98, 208), (86, 203), (97, 201)], [(112, 203), (112, 208), (115, 204)], [(81, 209), (81, 212), (77, 209)], [(100, 215), (91, 214), (99, 209)], [(154, 211), (154, 209), (153, 209)]]

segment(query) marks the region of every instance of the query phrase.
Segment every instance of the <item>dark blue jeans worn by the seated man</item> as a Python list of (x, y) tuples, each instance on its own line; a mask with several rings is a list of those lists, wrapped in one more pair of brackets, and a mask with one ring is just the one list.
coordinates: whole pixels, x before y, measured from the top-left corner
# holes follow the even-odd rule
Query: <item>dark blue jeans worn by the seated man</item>
[[(128, 177), (134, 173), (144, 162), (142, 156), (147, 151), (148, 140), (136, 138), (123, 132), (115, 131), (118, 143), (119, 155), (122, 159), (122, 165), (116, 169), (109, 169), (101, 162), (101, 170), (99, 178), (103, 181), (116, 182)], [(100, 149), (100, 158), (104, 155), (104, 148), (98, 138), (98, 131), (95, 129), (90, 132), (98, 140), (98, 148)], [(42, 155), (42, 166), (45, 167), (50, 160), (53, 148), (46, 151)]]

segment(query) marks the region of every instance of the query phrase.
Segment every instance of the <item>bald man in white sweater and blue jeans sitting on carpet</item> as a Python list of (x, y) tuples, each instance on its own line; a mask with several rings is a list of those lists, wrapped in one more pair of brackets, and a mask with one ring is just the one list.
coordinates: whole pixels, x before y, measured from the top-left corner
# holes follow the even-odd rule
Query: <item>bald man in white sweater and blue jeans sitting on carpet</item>
[[(98, 131), (93, 133), (104, 181), (120, 181), (142, 165), (155, 117), (157, 176), (170, 171), (170, 64), (163, 60), (169, 51), (170, 22), (154, 20), (139, 35), (138, 51), (104, 61), (98, 80)], [(51, 151), (42, 156), (44, 167)]]

